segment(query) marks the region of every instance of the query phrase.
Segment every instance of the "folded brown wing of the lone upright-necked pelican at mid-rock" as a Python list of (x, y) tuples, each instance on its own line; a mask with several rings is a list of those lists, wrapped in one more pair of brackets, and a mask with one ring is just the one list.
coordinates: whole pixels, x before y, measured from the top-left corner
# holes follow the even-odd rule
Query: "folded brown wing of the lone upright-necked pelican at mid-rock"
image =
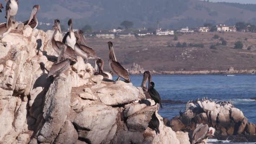
[(116, 73), (118, 76), (121, 76), (128, 82), (131, 82), (127, 70), (119, 62), (111, 62), (110, 66), (112, 67), (114, 73)]

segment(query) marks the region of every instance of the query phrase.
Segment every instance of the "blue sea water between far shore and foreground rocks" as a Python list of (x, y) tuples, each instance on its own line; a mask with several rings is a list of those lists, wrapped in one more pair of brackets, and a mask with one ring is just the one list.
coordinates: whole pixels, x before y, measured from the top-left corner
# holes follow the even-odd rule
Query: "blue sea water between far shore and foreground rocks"
[[(143, 75), (131, 75), (133, 85), (140, 87)], [(232, 101), (249, 122), (256, 123), (256, 75), (153, 75), (152, 81), (162, 100), (189, 101), (208, 97), (213, 101)], [(169, 120), (185, 105), (163, 104), (159, 114)]]

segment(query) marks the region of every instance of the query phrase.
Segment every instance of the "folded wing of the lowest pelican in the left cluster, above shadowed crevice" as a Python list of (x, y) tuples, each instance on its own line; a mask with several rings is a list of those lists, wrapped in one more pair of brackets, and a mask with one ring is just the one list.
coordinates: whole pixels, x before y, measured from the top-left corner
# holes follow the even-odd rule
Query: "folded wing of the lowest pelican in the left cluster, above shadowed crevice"
[(53, 66), (49, 71), (48, 77), (51, 75), (59, 75), (62, 72), (65, 72), (66, 70), (69, 69), (69, 65), (70, 65), (69, 59), (65, 59), (61, 62), (53, 64)]

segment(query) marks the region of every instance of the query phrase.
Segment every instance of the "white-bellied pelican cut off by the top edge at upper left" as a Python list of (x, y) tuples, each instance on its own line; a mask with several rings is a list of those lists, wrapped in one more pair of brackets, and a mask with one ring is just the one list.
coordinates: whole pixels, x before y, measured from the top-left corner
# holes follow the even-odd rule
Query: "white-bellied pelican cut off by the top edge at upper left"
[[(5, 0), (5, 2), (7, 2), (7, 0)], [(18, 0), (9, 0), (6, 4), (6, 15), (5, 18), (7, 19), (7, 25), (8, 25), (8, 10), (7, 7), (10, 7), (10, 11), (9, 11), (9, 17), (14, 17), (17, 14), (18, 11), (18, 6), (19, 6), (19, 2)], [(15, 20), (15, 17), (14, 17)]]

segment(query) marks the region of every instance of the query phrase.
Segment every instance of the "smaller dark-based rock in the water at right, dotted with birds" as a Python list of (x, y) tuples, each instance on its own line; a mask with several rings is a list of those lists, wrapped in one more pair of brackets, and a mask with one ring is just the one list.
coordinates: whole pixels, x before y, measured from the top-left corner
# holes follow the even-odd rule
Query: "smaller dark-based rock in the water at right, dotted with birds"
[(255, 140), (255, 124), (249, 123), (243, 112), (234, 108), (231, 102), (214, 102), (202, 99), (197, 101), (197, 104), (195, 105), (194, 101), (189, 101), (186, 105), (186, 111), (172, 118), (166, 125), (174, 131), (185, 131), (191, 134), (197, 124), (203, 123), (217, 130), (215, 132), (217, 138), (251, 135)]

